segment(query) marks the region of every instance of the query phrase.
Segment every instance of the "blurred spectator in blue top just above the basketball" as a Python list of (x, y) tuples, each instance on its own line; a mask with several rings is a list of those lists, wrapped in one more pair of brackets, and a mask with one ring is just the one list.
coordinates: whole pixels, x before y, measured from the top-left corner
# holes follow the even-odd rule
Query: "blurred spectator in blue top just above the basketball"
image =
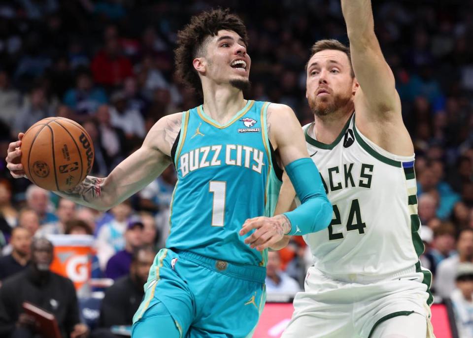
[(75, 88), (66, 92), (63, 101), (74, 110), (74, 120), (83, 122), (95, 113), (99, 105), (107, 102), (107, 97), (103, 89), (94, 87), (92, 74), (87, 68), (77, 70), (75, 81)]

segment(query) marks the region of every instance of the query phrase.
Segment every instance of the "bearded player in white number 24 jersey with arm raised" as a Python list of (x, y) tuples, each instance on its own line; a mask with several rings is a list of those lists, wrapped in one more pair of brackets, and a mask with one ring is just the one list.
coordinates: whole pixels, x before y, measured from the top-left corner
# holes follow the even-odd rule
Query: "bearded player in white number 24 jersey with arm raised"
[[(419, 262), (414, 148), (401, 101), (374, 34), (371, 1), (341, 5), (350, 48), (314, 44), (306, 83), (314, 122), (304, 126), (333, 219), (304, 236), (314, 266), (282, 337), (433, 337), (432, 275)], [(295, 196), (288, 183), (276, 214)]]

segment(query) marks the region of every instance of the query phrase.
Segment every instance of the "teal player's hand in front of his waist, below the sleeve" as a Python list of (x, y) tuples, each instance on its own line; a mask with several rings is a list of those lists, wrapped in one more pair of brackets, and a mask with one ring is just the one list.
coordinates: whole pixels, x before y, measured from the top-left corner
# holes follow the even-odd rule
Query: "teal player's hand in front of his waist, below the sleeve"
[(284, 237), (284, 234), (289, 233), (291, 223), (284, 215), (250, 218), (241, 227), (239, 235), (244, 236), (253, 229), (255, 232), (245, 238), (245, 243), (252, 249), (262, 251), (276, 244)]

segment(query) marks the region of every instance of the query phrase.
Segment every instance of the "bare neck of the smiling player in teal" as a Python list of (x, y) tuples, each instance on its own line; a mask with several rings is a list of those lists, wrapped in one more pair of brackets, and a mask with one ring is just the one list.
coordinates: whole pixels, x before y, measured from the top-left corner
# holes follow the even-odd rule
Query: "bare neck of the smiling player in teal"
[(234, 87), (215, 86), (203, 94), (203, 111), (219, 124), (226, 124), (235, 114), (243, 109), (247, 101), (243, 92)]

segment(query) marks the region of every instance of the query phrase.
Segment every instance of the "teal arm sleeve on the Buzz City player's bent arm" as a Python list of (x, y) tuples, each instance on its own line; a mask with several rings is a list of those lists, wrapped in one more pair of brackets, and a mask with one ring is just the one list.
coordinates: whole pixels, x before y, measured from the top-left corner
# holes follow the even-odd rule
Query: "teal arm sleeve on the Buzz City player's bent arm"
[(286, 172), (301, 200), (296, 209), (284, 213), (291, 222), (291, 231), (286, 235), (305, 235), (327, 228), (333, 208), (315, 164), (309, 158), (298, 159), (286, 166)]

